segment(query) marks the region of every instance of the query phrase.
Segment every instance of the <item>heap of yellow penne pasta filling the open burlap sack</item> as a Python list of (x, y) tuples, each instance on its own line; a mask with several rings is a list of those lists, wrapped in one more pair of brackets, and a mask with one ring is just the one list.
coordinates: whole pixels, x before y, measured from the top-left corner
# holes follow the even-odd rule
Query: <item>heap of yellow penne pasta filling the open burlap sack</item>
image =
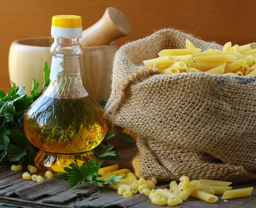
[(201, 51), (186, 40), (186, 49), (164, 49), (158, 55), (143, 63), (156, 67), (161, 74), (205, 72), (230, 77), (256, 76), (256, 71), (247, 72), (249, 68), (256, 69), (256, 49), (251, 49), (250, 44), (232, 46), (228, 42), (222, 51), (213, 48)]

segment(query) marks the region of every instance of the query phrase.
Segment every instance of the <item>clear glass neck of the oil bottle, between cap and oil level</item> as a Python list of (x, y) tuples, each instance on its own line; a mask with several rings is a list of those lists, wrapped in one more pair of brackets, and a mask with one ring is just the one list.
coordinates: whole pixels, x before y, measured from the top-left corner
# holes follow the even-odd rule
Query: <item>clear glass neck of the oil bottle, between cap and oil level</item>
[(87, 96), (81, 77), (82, 47), (78, 38), (54, 38), (51, 46), (52, 65), (50, 85), (45, 91), (53, 97)]

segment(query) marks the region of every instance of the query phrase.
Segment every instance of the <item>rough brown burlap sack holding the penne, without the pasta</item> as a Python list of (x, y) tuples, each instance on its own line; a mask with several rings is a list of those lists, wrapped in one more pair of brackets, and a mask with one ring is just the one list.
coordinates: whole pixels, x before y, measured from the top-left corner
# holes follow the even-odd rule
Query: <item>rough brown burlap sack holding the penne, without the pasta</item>
[(137, 177), (245, 181), (256, 179), (256, 78), (159, 74), (143, 66), (166, 48), (222, 46), (164, 29), (122, 46), (113, 63), (105, 117), (136, 132)]

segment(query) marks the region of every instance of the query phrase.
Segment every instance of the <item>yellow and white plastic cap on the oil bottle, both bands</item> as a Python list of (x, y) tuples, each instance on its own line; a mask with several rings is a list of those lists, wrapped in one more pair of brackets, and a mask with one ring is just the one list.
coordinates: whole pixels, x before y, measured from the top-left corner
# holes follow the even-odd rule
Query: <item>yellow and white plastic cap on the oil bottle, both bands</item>
[(55, 15), (52, 17), (52, 37), (81, 37), (82, 18), (76, 15)]

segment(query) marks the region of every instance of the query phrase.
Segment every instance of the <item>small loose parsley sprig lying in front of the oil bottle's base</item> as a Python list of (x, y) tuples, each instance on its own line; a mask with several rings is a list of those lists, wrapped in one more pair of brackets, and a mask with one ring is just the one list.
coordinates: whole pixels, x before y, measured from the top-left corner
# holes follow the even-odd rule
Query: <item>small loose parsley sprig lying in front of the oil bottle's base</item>
[(90, 183), (103, 187), (104, 184), (115, 184), (115, 182), (122, 179), (122, 176), (114, 174), (104, 180), (97, 180), (100, 175), (98, 174), (99, 168), (102, 165), (102, 161), (96, 162), (96, 160), (91, 160), (84, 162), (80, 167), (75, 163), (71, 163), (70, 168), (64, 168), (67, 173), (58, 173), (61, 178), (68, 180), (70, 182), (70, 189), (76, 188), (79, 184), (84, 184), (84, 181), (89, 181)]

